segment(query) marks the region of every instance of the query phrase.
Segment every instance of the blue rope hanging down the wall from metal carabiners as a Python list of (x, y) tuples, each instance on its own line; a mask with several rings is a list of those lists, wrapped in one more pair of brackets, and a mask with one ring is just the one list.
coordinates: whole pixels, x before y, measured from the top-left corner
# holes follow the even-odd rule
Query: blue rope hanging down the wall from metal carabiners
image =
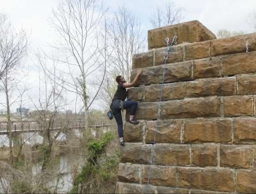
[[(167, 54), (165, 55), (165, 65), (166, 65), (166, 60), (168, 59), (168, 54), (169, 54), (169, 51), (170, 51), (170, 46), (169, 46), (169, 38), (166, 38), (165, 41), (167, 42), (167, 46), (168, 46), (168, 49), (167, 49)], [(177, 36), (174, 36), (172, 42), (171, 42), (171, 46), (173, 44), (173, 42), (175, 42), (175, 44), (177, 44)], [(156, 132), (155, 132), (155, 137), (154, 137), (154, 143), (153, 143), (153, 154), (152, 154), (152, 158), (151, 158), (151, 162), (150, 162), (150, 168), (149, 168), (149, 175), (148, 175), (148, 180), (147, 180), (147, 186), (146, 186), (146, 194), (147, 194), (147, 189), (148, 189), (148, 185), (149, 185), (149, 179), (150, 179), (150, 173), (151, 173), (151, 167), (152, 167), (152, 164), (153, 164), (153, 158), (154, 158), (154, 145), (155, 145), (155, 142), (156, 142), (156, 135), (157, 135), (157, 128), (158, 128), (158, 120), (160, 118), (160, 103), (162, 101), (162, 96), (163, 96), (163, 88), (164, 88), (164, 82), (165, 82), (165, 67), (164, 67), (164, 73), (163, 73), (163, 81), (162, 81), (162, 88), (161, 88), (161, 95), (160, 95), (160, 101), (159, 101), (159, 104), (158, 104), (158, 115), (157, 115), (157, 125), (156, 125)]]

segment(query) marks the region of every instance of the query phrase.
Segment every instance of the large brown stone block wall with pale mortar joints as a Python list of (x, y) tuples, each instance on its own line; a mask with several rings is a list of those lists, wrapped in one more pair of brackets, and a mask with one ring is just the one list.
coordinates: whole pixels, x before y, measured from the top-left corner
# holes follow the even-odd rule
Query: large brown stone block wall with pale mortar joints
[(148, 193), (256, 193), (256, 33), (216, 39), (192, 21), (149, 30), (148, 42), (133, 57), (136, 86), (152, 77), (129, 90), (140, 123), (125, 123), (116, 193), (146, 193), (152, 158)]

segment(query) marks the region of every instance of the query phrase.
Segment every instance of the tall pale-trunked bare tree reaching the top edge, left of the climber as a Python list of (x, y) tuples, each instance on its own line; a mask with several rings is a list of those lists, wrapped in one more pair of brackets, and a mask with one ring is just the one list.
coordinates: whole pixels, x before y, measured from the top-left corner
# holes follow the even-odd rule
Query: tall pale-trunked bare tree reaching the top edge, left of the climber
[(90, 134), (88, 109), (95, 99), (91, 97), (89, 101), (87, 79), (102, 65), (98, 62), (102, 48), (98, 47), (95, 35), (106, 11), (101, 0), (64, 0), (56, 10), (52, 10), (53, 16), (49, 19), (59, 36), (52, 47), (60, 52), (62, 58), (59, 61), (67, 68), (61, 78), (63, 87), (81, 97), (87, 134)]

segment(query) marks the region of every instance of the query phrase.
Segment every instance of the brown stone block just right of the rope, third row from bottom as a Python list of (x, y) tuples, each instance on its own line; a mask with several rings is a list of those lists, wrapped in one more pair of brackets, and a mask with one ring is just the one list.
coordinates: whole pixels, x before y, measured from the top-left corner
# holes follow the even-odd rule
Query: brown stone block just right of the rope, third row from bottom
[(190, 145), (157, 145), (154, 164), (185, 166), (190, 164)]

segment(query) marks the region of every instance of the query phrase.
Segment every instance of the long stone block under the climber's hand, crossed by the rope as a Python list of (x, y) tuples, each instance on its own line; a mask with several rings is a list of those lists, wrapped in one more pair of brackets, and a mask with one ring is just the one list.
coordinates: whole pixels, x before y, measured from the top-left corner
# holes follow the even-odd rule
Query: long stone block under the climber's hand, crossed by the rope
[[(192, 80), (192, 62), (177, 64), (177, 65), (162, 65), (160, 67), (148, 67), (144, 68), (143, 72), (135, 86), (143, 85), (146, 80), (145, 85), (151, 84), (162, 84), (163, 73), (165, 67), (165, 80), (164, 83), (171, 83), (177, 81)], [(131, 81), (134, 80), (136, 76), (137, 69), (133, 69), (131, 72)]]

